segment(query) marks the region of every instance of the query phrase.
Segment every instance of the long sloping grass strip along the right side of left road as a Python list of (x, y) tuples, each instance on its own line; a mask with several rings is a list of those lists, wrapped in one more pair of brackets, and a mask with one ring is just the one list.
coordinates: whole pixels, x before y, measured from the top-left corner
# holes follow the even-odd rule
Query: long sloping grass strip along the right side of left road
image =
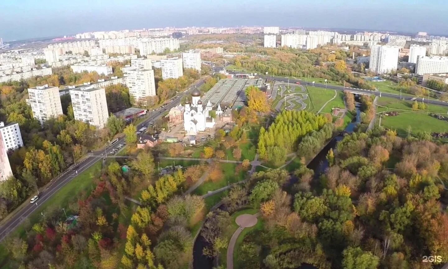
[[(34, 223), (38, 222), (42, 217), (41, 213), (54, 213), (60, 212), (63, 216), (62, 208), (65, 208), (67, 214), (70, 214), (69, 204), (75, 202), (83, 196), (90, 194), (90, 191), (94, 189), (93, 178), (98, 178), (101, 172), (102, 161), (97, 161), (95, 164), (90, 166), (88, 169), (78, 174), (75, 178), (70, 180), (64, 187), (60, 188), (55, 194), (46, 200), (43, 204), (39, 206), (39, 209), (30, 214), (30, 216), (22, 222), (17, 228), (10, 234), (10, 236), (23, 237), (25, 236), (25, 231), (28, 230)], [(0, 245), (0, 253), (4, 253), (2, 249), (6, 246)], [(7, 247), (6, 247), (7, 248)], [(4, 263), (5, 257), (0, 255), (0, 264)], [(7, 258), (7, 257), (6, 257)]]

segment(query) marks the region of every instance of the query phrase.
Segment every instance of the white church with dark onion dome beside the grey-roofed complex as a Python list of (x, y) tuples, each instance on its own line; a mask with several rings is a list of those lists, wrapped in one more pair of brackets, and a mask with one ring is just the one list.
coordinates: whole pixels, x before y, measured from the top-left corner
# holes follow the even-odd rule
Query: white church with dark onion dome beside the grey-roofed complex
[[(215, 126), (215, 119), (210, 117), (210, 111), (212, 111), (213, 105), (210, 100), (206, 106), (202, 105), (201, 92), (198, 89), (194, 89), (191, 92), (191, 104), (188, 102), (185, 104), (184, 111), (184, 130), (187, 134), (196, 135), (198, 132), (203, 132), (207, 128), (213, 128)], [(216, 115), (222, 113), (220, 104), (216, 110)]]

